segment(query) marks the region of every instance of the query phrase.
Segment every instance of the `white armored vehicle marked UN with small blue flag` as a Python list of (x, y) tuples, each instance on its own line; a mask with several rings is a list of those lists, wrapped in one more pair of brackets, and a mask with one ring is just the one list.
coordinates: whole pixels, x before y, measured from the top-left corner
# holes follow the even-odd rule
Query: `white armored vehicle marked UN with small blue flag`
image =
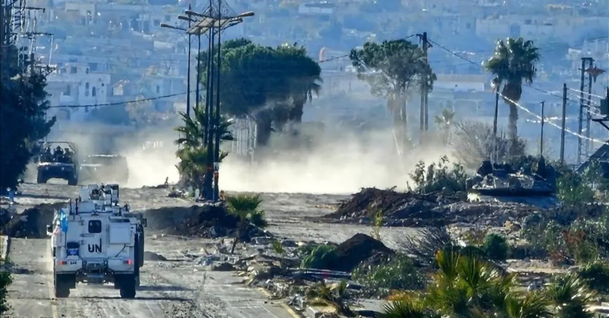
[(119, 186), (88, 185), (48, 225), (55, 297), (69, 297), (76, 283), (114, 283), (122, 298), (134, 298), (144, 264), (141, 213), (119, 205)]

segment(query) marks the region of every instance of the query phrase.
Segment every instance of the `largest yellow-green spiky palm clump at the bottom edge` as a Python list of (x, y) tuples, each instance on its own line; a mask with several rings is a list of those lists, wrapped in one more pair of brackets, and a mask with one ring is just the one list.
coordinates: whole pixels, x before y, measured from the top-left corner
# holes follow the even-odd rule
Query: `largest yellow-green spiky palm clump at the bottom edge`
[(552, 317), (543, 295), (518, 291), (514, 275), (499, 272), (477, 256), (445, 249), (438, 250), (435, 261), (438, 271), (424, 294), (385, 306), (382, 317)]

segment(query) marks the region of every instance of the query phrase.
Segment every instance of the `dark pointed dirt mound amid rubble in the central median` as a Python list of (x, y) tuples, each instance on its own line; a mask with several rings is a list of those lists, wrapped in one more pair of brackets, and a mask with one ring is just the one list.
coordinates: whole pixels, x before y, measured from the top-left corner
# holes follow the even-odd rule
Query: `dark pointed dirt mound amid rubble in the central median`
[(393, 250), (368, 235), (357, 233), (336, 247), (337, 259), (331, 264), (332, 270), (350, 272), (363, 261), (392, 254)]

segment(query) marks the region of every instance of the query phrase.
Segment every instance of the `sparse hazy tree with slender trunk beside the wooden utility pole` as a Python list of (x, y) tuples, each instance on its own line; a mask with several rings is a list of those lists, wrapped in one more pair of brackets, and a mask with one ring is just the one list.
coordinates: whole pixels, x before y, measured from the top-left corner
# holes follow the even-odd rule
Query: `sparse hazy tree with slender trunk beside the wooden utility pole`
[(407, 40), (366, 42), (363, 48), (351, 50), (349, 57), (357, 77), (370, 85), (370, 93), (387, 99), (397, 136), (405, 144), (407, 99), (421, 87), (423, 75), (427, 75), (430, 90), (435, 80), (423, 49)]

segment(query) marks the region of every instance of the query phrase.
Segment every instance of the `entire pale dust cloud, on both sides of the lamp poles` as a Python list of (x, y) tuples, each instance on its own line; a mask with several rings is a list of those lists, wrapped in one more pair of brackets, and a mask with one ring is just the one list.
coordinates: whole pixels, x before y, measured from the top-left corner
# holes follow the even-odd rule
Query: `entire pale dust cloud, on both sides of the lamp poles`
[[(175, 164), (177, 133), (171, 127), (138, 133), (124, 133), (114, 138), (108, 135), (108, 127), (99, 127), (91, 133), (54, 133), (49, 140), (72, 141), (82, 155), (119, 154), (127, 158), (129, 169), (128, 188), (176, 183), (179, 179)], [(256, 149), (256, 163), (247, 163), (236, 154), (229, 154), (220, 166), (220, 188), (227, 191), (347, 194), (366, 186), (405, 189), (412, 181), (412, 172), (419, 160), (426, 163), (437, 161), (446, 155), (440, 144), (436, 147), (413, 149), (398, 160), (393, 148), (391, 130), (371, 132), (345, 132), (329, 136), (317, 136), (316, 146), (308, 150), (290, 149), (267, 151), (267, 155)], [(146, 141), (162, 144), (158, 149), (145, 150)], [(227, 142), (230, 147), (230, 143)], [(283, 149), (275, 143), (270, 150)], [(269, 154), (272, 152), (273, 154)]]

